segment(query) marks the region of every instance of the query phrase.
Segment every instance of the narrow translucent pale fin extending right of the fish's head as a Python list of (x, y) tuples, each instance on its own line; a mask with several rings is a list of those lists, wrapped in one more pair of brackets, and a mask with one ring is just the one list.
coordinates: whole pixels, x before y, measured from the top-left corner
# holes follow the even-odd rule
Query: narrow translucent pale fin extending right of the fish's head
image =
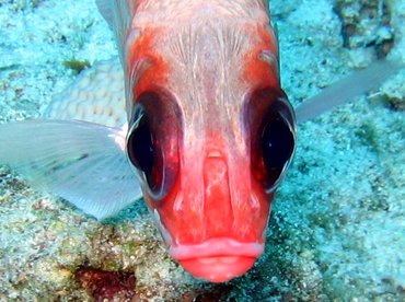
[(355, 71), (347, 78), (332, 84), (320, 94), (306, 100), (296, 109), (297, 120), (305, 121), (354, 97), (380, 86), (389, 77), (402, 68), (401, 63), (389, 60), (373, 62), (363, 70)]

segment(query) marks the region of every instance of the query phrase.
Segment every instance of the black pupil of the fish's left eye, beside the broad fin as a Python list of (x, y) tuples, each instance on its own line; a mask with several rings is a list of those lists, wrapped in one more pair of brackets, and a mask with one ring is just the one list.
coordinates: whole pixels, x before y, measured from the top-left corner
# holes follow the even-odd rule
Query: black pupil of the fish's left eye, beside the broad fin
[(139, 113), (138, 120), (128, 138), (128, 158), (144, 174), (152, 173), (154, 160), (153, 137), (146, 113)]

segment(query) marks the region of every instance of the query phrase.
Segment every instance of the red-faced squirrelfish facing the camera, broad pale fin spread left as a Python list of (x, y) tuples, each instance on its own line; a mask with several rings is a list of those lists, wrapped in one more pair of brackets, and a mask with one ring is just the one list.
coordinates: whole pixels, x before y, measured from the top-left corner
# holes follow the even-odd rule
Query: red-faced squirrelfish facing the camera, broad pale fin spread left
[(193, 276), (245, 274), (264, 252), (296, 147), (268, 1), (97, 5), (116, 35), (127, 123), (2, 125), (0, 162), (99, 219), (142, 194), (170, 255)]

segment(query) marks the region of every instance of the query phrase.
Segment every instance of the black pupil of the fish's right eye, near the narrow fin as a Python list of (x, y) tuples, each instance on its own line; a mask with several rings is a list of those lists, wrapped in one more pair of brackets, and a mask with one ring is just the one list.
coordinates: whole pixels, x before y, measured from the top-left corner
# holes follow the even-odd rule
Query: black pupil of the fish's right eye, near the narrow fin
[(277, 112), (268, 117), (262, 133), (262, 152), (270, 182), (280, 176), (294, 150), (294, 135), (288, 121)]

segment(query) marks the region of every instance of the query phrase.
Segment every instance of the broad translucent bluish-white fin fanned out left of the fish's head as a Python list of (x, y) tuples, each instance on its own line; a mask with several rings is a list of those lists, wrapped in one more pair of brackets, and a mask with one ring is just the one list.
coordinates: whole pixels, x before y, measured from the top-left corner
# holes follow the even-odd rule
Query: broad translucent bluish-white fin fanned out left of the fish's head
[(0, 125), (0, 163), (103, 219), (141, 197), (124, 141), (120, 128), (85, 121), (10, 123)]

